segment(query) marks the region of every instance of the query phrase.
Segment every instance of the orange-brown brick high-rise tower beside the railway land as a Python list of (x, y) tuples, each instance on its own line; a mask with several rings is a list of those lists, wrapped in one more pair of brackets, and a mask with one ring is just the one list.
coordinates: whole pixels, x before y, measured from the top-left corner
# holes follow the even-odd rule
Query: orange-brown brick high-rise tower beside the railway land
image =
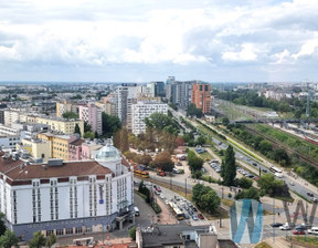
[(211, 84), (194, 83), (191, 91), (191, 103), (197, 108), (201, 110), (203, 114), (211, 111)]

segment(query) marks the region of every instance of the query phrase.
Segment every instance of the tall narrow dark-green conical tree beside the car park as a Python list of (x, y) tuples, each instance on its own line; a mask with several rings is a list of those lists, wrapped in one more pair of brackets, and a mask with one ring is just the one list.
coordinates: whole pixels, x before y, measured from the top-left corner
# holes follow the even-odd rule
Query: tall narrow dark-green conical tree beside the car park
[(225, 151), (224, 163), (221, 166), (223, 183), (226, 186), (233, 186), (236, 176), (235, 153), (231, 145)]

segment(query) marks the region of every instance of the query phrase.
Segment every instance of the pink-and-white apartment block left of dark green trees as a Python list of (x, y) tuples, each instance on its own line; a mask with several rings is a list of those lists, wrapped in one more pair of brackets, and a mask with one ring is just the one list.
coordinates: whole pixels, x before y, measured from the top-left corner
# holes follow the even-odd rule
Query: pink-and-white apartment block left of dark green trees
[(102, 128), (102, 108), (95, 104), (80, 105), (80, 118), (92, 126), (93, 132), (103, 134)]

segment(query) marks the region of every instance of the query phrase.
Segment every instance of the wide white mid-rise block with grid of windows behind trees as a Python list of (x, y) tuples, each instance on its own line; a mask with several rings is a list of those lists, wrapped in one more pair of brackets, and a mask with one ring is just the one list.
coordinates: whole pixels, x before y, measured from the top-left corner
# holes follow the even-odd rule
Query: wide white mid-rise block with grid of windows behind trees
[(168, 104), (156, 102), (137, 102), (132, 104), (132, 133), (135, 135), (146, 132), (145, 118), (150, 117), (153, 113), (168, 114)]

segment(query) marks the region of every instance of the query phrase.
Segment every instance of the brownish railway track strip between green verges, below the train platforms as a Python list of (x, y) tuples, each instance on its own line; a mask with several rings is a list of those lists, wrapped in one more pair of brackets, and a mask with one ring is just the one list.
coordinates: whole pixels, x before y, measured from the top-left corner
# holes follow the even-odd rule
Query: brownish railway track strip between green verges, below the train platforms
[(306, 162), (306, 163), (315, 166), (316, 168), (318, 168), (317, 159), (307, 157), (306, 155), (304, 155), (304, 154), (301, 154), (301, 153), (288, 147), (287, 145), (280, 144), (279, 142), (275, 141), (273, 137), (268, 137), (267, 135), (265, 135), (265, 134), (263, 134), (263, 133), (261, 133), (261, 132), (258, 132), (258, 131), (256, 131), (256, 130), (254, 130), (254, 128), (252, 128), (252, 127), (250, 127), (247, 125), (245, 125), (245, 127), (246, 127), (246, 130), (248, 132), (251, 132), (253, 134), (256, 134), (256, 135), (258, 135), (261, 137), (264, 137), (264, 138), (268, 140), (269, 142), (272, 142), (273, 146), (275, 148), (284, 148), (289, 155), (290, 154), (296, 154), (300, 161)]

